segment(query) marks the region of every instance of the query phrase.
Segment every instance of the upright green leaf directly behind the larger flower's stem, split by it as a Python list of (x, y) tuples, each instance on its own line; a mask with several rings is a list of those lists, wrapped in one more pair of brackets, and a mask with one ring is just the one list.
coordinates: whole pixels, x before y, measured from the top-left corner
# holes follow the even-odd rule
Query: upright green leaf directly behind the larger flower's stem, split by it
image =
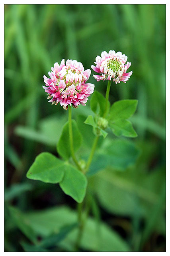
[[(72, 120), (72, 132), (73, 132), (74, 152), (76, 152), (82, 143), (82, 135), (78, 130), (78, 126), (75, 120)], [(59, 139), (59, 142), (57, 144), (57, 151), (65, 160), (67, 160), (71, 156), (68, 122), (66, 122), (66, 124), (64, 124), (63, 126), (63, 131)]]

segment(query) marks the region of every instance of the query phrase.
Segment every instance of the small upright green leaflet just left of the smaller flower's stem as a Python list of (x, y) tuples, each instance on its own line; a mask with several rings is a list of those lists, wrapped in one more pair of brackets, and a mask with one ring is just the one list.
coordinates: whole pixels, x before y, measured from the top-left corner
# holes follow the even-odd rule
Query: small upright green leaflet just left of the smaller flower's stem
[(94, 91), (90, 101), (90, 106), (95, 114), (103, 116), (106, 106), (106, 99), (100, 92)]

